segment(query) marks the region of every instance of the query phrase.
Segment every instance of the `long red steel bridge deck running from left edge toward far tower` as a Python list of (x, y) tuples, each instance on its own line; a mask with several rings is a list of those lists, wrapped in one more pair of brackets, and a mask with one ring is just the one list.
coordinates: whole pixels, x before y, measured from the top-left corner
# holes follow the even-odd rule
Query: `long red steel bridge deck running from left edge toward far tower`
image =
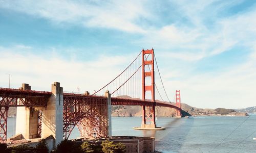
[[(39, 107), (39, 106), (47, 106), (48, 98), (52, 95), (52, 92), (49, 91), (35, 91), (35, 90), (21, 90), (21, 89), (9, 89), (9, 88), (0, 88), (0, 107)], [(85, 94), (77, 94), (77, 93), (65, 93), (63, 92), (63, 98), (71, 98), (76, 101), (80, 100), (89, 100), (95, 101), (96, 99), (107, 99), (105, 96), (95, 96), (95, 95), (85, 95)], [(19, 100), (18, 100), (19, 99)], [(65, 100), (64, 100), (65, 101)], [(111, 105), (127, 105), (127, 106), (152, 106), (153, 102), (150, 100), (141, 100), (141, 99), (133, 99), (133, 98), (111, 98)], [(79, 105), (79, 103), (75, 103)], [(63, 105), (69, 105), (64, 103)], [(73, 104), (74, 105), (74, 104)], [(169, 107), (174, 108), (176, 110), (180, 110), (180, 108), (163, 102), (155, 102), (155, 106), (159, 107)]]

